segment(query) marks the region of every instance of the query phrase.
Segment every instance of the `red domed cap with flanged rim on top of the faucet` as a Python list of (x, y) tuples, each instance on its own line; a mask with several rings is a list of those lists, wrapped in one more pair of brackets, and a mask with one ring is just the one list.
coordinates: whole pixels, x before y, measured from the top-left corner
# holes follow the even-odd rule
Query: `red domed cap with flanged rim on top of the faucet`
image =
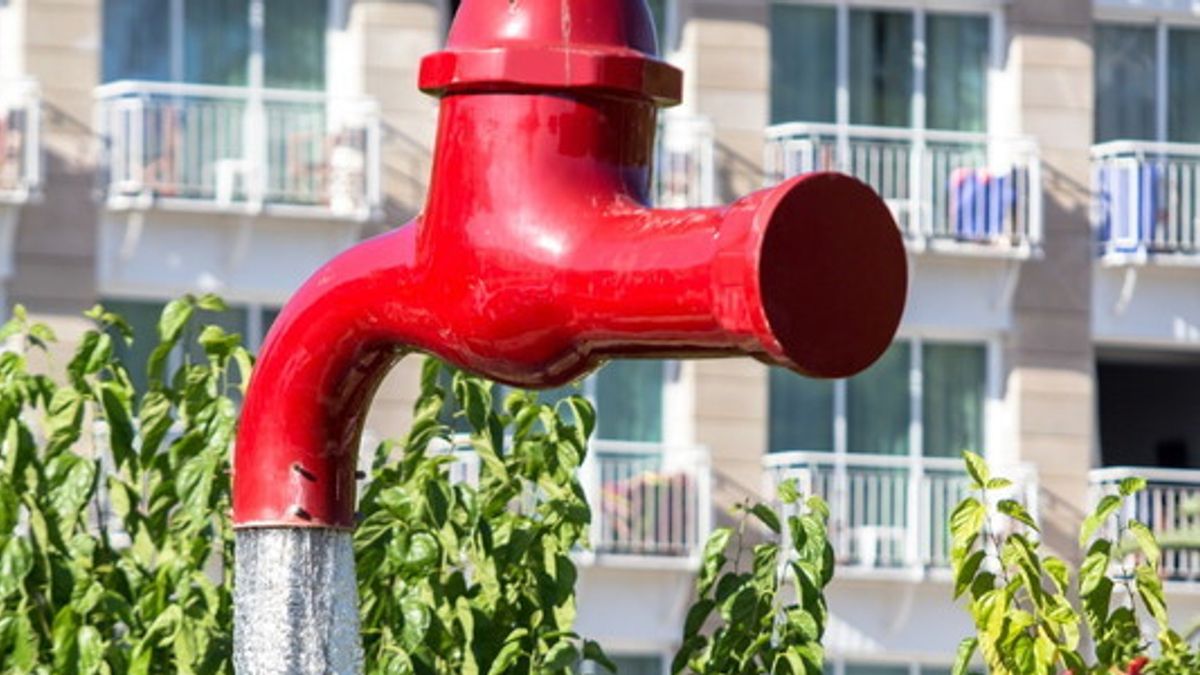
[(656, 53), (644, 0), (464, 0), (445, 50), (421, 60), (420, 88), (593, 90), (673, 106), (683, 73)]

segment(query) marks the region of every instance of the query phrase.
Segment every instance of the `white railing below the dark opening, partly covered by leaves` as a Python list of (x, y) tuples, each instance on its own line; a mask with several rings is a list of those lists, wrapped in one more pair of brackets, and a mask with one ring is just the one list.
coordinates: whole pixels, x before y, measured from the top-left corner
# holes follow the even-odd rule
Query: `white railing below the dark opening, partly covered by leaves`
[[(1200, 539), (1200, 470), (1116, 466), (1097, 468), (1088, 474), (1091, 502), (1094, 506), (1104, 495), (1117, 494), (1121, 480), (1141, 477), (1147, 482), (1144, 491), (1126, 500), (1120, 516), (1145, 524), (1164, 543)], [(1112, 538), (1115, 522), (1109, 522), (1100, 534)], [(1132, 567), (1130, 567), (1132, 569)], [(1168, 546), (1163, 551), (1162, 573), (1169, 579), (1200, 579), (1200, 546)]]

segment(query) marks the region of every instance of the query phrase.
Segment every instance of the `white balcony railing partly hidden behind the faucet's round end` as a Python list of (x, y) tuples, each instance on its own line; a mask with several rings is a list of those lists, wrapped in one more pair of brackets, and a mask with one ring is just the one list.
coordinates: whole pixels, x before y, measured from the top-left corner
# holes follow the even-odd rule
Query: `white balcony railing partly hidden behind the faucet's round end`
[(1042, 162), (1031, 139), (900, 127), (782, 124), (767, 175), (854, 175), (883, 197), (910, 246), (1027, 255), (1042, 243)]

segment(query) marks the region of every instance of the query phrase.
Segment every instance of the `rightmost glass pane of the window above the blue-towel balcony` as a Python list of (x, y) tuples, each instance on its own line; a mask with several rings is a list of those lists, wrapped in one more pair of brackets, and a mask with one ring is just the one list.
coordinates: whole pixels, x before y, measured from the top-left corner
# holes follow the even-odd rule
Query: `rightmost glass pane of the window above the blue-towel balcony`
[(988, 126), (986, 17), (930, 14), (925, 34), (925, 124), (985, 131)]

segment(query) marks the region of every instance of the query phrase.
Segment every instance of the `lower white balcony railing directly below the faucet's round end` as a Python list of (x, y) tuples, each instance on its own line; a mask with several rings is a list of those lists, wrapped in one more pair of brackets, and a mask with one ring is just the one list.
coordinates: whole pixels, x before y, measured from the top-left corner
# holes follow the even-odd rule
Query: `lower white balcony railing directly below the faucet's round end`
[[(970, 490), (959, 459), (821, 452), (773, 453), (763, 464), (774, 484), (796, 479), (829, 503), (829, 540), (838, 563), (864, 569), (947, 568), (950, 514)], [(1032, 467), (997, 472), (1014, 479), (1006, 495), (1037, 518)]]

